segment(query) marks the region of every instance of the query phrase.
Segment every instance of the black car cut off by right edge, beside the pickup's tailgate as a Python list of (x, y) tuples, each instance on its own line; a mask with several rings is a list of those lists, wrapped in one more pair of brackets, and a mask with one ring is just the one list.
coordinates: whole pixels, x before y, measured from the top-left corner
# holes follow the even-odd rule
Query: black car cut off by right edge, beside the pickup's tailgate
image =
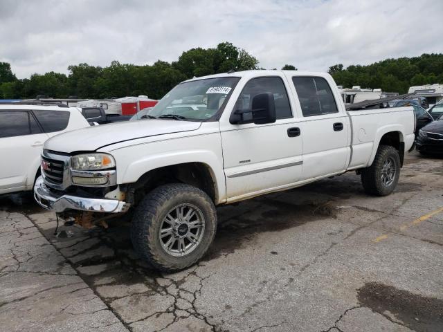
[(416, 149), (421, 154), (443, 154), (443, 117), (419, 130)]

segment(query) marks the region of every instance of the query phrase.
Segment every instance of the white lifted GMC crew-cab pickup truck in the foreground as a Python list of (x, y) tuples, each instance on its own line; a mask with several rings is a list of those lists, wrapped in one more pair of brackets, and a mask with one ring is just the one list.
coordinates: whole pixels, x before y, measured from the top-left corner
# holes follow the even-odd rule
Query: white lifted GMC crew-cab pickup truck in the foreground
[(298, 71), (194, 78), (148, 118), (51, 138), (34, 192), (84, 227), (134, 210), (134, 248), (165, 271), (208, 250), (216, 205), (348, 171), (390, 194), (415, 128), (412, 107), (346, 111), (330, 75)]

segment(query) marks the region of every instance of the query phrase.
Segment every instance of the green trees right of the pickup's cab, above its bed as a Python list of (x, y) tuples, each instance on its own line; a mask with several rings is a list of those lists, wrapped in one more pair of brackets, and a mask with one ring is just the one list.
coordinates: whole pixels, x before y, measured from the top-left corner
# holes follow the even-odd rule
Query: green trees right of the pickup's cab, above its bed
[(423, 54), (419, 57), (386, 59), (368, 66), (343, 64), (329, 67), (329, 74), (345, 88), (363, 88), (407, 93), (409, 86), (443, 84), (443, 54)]

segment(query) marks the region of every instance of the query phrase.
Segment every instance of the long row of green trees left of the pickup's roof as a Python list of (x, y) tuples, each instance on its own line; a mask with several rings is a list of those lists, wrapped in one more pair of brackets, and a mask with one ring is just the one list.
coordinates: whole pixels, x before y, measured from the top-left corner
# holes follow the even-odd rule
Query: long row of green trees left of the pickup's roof
[(10, 64), (0, 62), (0, 98), (118, 98), (147, 95), (160, 99), (183, 80), (230, 70), (256, 69), (258, 60), (246, 50), (224, 42), (217, 48), (192, 48), (183, 52), (177, 62), (155, 62), (152, 66), (136, 66), (111, 62), (108, 67), (77, 64), (68, 67), (69, 75), (33, 74), (17, 80)]

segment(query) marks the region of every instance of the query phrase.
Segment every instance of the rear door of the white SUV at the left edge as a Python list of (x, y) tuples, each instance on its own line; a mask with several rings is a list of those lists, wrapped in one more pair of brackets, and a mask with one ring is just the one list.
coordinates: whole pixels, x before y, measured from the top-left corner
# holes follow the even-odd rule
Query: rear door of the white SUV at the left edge
[[(26, 189), (35, 177), (46, 133), (30, 111), (0, 111), (0, 194)], [(32, 174), (32, 175), (30, 175)], [(34, 181), (34, 178), (30, 179)]]

